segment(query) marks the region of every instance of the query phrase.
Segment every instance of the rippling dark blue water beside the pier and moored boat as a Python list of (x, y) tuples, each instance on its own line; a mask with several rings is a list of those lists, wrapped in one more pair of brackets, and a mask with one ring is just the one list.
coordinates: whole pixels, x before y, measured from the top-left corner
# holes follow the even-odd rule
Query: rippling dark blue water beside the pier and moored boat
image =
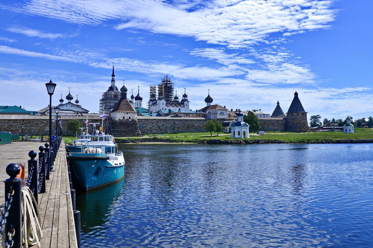
[(120, 145), (82, 247), (373, 247), (373, 144)]

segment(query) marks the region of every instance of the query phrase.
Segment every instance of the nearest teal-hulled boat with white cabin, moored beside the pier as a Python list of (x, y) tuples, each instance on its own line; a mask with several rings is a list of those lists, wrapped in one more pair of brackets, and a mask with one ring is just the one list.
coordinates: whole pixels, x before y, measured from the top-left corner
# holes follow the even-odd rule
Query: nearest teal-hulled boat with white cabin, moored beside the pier
[(85, 190), (113, 183), (124, 175), (123, 152), (117, 151), (114, 137), (96, 132), (80, 152), (71, 152), (66, 157), (73, 184)]

